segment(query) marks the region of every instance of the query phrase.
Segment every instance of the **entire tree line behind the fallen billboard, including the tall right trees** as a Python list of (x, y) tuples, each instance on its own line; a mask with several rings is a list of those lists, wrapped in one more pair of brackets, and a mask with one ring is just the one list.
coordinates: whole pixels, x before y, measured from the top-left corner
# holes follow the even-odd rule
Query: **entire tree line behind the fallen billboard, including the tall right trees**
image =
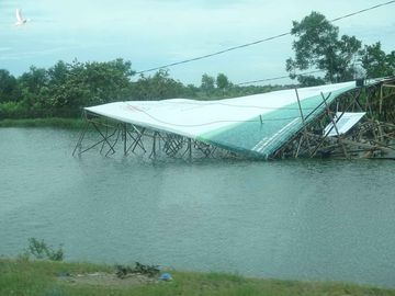
[[(339, 35), (339, 29), (325, 15), (312, 12), (293, 22), (291, 34), (295, 56), (285, 68), (293, 86), (237, 86), (224, 73), (203, 73), (201, 84), (184, 86), (161, 69), (153, 76), (139, 76), (132, 62), (59, 60), (49, 68), (32, 66), (20, 77), (0, 69), (0, 119), (25, 117), (74, 117), (83, 106), (114, 101), (162, 100), (170, 98), (221, 99), (262, 93), (284, 88), (349, 81), (361, 75), (369, 78), (395, 75), (395, 50), (386, 54), (381, 43), (362, 46), (354, 36)], [(301, 75), (317, 70), (317, 76)]]

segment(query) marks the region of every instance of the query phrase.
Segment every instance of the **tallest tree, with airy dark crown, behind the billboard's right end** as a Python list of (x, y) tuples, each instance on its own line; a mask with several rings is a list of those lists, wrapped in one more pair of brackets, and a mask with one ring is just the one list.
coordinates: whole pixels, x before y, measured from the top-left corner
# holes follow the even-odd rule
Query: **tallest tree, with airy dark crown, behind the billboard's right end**
[[(353, 79), (353, 64), (361, 48), (361, 42), (354, 36), (339, 38), (339, 29), (318, 12), (312, 12), (301, 22), (294, 21), (291, 34), (296, 37), (292, 45), (295, 57), (286, 60), (291, 78), (306, 81), (296, 72), (318, 69), (328, 82)], [(312, 79), (307, 80), (312, 82)]]

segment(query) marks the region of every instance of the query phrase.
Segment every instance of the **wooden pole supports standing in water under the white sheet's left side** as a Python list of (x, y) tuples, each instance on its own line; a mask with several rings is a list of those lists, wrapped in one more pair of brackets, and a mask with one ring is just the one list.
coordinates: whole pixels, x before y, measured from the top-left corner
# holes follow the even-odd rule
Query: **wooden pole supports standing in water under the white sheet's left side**
[(149, 159), (171, 157), (192, 161), (201, 158), (237, 157), (230, 151), (178, 134), (116, 122), (87, 111), (83, 117), (84, 127), (72, 156), (95, 150), (109, 157), (122, 147), (124, 156), (134, 153)]

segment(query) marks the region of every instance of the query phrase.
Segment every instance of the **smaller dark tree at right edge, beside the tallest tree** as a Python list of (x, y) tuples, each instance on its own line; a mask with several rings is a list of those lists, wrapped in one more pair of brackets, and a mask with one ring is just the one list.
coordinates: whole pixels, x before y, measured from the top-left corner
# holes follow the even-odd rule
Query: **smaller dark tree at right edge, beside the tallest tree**
[(361, 62), (369, 78), (395, 75), (395, 52), (385, 54), (380, 42), (364, 46), (361, 50)]

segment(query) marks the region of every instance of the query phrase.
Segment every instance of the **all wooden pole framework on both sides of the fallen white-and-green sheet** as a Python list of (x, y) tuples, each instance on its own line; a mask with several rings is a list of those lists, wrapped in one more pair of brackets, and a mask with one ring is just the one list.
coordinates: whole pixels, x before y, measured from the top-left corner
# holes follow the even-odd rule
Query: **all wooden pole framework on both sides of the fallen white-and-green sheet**
[[(295, 89), (303, 125), (268, 159), (315, 157), (395, 159), (395, 78), (354, 88), (334, 100), (329, 100), (331, 93), (320, 95), (320, 104), (308, 114), (304, 114)], [(331, 103), (328, 103), (329, 101)], [(340, 134), (337, 127), (338, 121), (346, 112), (357, 111), (365, 112), (364, 118), (346, 135)], [(338, 113), (340, 116), (335, 117)], [(72, 156), (81, 156), (100, 147), (99, 152), (109, 157), (122, 146), (124, 156), (133, 153), (148, 159), (170, 157), (192, 161), (201, 158), (257, 158), (253, 155), (179, 134), (119, 122), (87, 110), (83, 111), (83, 121), (84, 126)], [(328, 123), (332, 124), (336, 136), (329, 136), (331, 129), (323, 133)], [(93, 130), (98, 138), (88, 140), (87, 135), (92, 134), (89, 130)]]

